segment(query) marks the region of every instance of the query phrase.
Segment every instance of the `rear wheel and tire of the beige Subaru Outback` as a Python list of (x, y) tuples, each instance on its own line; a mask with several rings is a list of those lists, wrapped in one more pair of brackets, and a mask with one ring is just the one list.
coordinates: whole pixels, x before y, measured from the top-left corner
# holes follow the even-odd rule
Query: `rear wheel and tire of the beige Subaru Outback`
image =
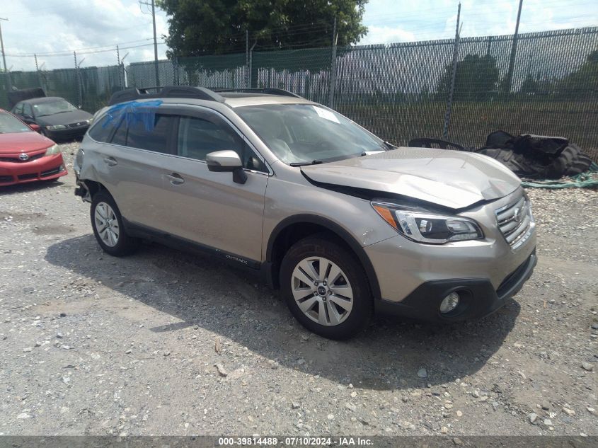
[[(139, 239), (132, 238), (122, 225), (122, 216), (113, 197), (99, 191), (91, 200), (91, 227), (98, 244), (105, 253), (115, 257), (129, 255), (139, 247)], [(108, 220), (108, 229), (98, 229)], [(99, 230), (99, 231), (98, 231)]]

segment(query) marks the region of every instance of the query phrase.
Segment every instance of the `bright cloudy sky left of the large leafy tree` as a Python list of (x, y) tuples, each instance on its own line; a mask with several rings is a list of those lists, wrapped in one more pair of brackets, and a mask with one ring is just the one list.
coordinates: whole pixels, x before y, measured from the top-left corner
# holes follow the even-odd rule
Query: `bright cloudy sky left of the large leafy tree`
[[(19, 56), (34, 53), (45, 69), (74, 67), (73, 50), (81, 50), (82, 67), (116, 64), (119, 43), (121, 57), (130, 53), (127, 62), (154, 57), (151, 14), (146, 7), (142, 11), (137, 0), (46, 0), (43, 4), (13, 0), (3, 2), (2, 9), (9, 18), (2, 23), (6, 64), (13, 70), (35, 69), (32, 56)], [(161, 42), (168, 24), (160, 10), (156, 10), (156, 30)], [(166, 45), (158, 50), (160, 58), (166, 57)], [(65, 55), (47, 54), (56, 52)]]

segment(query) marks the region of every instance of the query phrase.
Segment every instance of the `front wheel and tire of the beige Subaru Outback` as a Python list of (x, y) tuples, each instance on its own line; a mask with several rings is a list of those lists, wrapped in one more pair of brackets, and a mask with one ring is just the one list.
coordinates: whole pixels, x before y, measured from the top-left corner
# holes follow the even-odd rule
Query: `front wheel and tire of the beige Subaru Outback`
[(351, 338), (372, 317), (372, 293), (361, 263), (328, 235), (310, 236), (289, 248), (280, 286), (293, 316), (324, 338)]

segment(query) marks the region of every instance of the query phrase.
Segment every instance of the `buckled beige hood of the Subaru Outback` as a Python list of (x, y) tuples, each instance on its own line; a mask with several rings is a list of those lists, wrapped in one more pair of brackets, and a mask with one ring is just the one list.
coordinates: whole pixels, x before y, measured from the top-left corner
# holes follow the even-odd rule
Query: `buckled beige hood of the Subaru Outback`
[(401, 147), (302, 166), (301, 171), (316, 183), (393, 193), (452, 209), (504, 197), (521, 184), (488, 156), (447, 149)]

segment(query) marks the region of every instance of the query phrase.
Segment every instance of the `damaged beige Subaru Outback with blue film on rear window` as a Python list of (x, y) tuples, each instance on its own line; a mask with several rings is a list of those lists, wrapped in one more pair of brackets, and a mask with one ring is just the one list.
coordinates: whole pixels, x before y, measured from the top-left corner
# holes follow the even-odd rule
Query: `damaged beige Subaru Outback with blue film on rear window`
[(105, 252), (149, 239), (212, 253), (280, 288), (326, 338), (375, 311), (486, 316), (536, 265), (529, 199), (500, 163), (394, 147), (278, 89), (115, 93), (74, 171)]

